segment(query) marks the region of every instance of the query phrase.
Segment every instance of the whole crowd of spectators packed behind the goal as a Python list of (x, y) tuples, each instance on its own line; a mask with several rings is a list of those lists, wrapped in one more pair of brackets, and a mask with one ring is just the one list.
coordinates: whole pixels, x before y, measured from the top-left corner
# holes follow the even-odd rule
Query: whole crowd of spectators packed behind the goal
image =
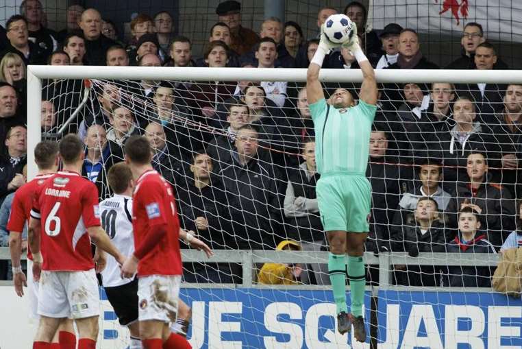
[[(198, 57), (190, 38), (173, 36), (169, 12), (138, 14), (132, 37), (94, 9), (67, 9), (60, 32), (45, 27), (39, 0), (0, 30), (0, 244), (10, 196), (26, 181), (27, 64), (138, 67), (308, 67), (319, 41), (299, 23), (275, 17), (260, 30), (243, 27), (240, 3), (224, 1), (208, 45)], [(321, 8), (317, 32), (336, 8)], [(376, 69), (439, 69), (423, 55), (414, 29), (389, 23), (366, 29), (366, 8), (350, 2), (362, 48)], [(1, 34), (5, 32), (5, 34)], [(480, 23), (467, 23), (462, 56), (447, 69), (508, 69)], [(356, 69), (346, 49), (332, 51), (323, 68)], [(42, 136), (77, 132), (85, 142), (82, 176), (110, 195), (106, 173), (123, 160), (125, 141), (144, 134), (153, 167), (177, 193), (182, 226), (214, 249), (327, 250), (315, 186), (314, 128), (306, 88), (294, 82), (45, 80)], [(325, 84), (332, 105), (357, 103), (357, 84)], [(351, 98), (351, 95), (355, 99)], [(86, 101), (86, 103), (84, 103)], [(495, 253), (520, 228), (515, 202), (522, 150), (522, 86), (510, 84), (384, 84), (371, 134), (366, 171), (373, 186), (366, 250)], [(5, 264), (5, 263), (4, 263)], [(326, 268), (264, 267), (262, 282), (327, 284)], [(279, 268), (279, 269), (278, 269)], [(5, 265), (0, 278), (5, 278)], [(277, 270), (277, 275), (270, 275)], [(3, 275), (1, 275), (3, 273)], [(420, 274), (419, 274), (420, 273)], [(402, 285), (488, 286), (488, 270), (397, 266)], [(192, 282), (237, 282), (230, 263), (186, 265)], [(273, 281), (276, 282), (276, 281)]]

